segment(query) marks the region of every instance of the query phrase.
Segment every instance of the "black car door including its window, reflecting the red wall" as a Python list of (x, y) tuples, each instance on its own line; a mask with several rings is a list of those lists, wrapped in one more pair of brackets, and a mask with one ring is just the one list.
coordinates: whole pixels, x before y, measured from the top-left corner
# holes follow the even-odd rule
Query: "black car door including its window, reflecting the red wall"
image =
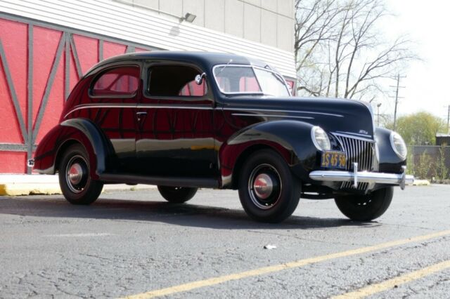
[(144, 175), (211, 178), (214, 153), (214, 101), (202, 74), (191, 65), (148, 65), (146, 88), (137, 107), (136, 155)]

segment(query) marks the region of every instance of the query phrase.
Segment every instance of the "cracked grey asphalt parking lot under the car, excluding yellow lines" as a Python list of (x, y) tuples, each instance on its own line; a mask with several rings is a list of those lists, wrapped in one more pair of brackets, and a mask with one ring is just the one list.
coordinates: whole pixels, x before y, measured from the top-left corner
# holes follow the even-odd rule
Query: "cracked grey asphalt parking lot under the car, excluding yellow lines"
[[(115, 298), (450, 230), (450, 186), (398, 188), (385, 215), (352, 222), (301, 200), (281, 224), (253, 222), (235, 191), (168, 204), (155, 189), (0, 197), (1, 298)], [(266, 245), (276, 248), (264, 249)], [(450, 234), (172, 293), (169, 298), (330, 298), (450, 260)], [(369, 298), (449, 298), (450, 268)]]

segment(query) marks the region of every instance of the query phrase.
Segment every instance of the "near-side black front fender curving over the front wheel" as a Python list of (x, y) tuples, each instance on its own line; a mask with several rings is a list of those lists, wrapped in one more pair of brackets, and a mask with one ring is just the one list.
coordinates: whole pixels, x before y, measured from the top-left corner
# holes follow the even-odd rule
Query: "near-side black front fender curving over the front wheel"
[(238, 131), (219, 150), (222, 187), (233, 185), (236, 164), (243, 153), (270, 147), (285, 159), (301, 180), (316, 165), (318, 151), (311, 140), (311, 124), (302, 121), (266, 121)]

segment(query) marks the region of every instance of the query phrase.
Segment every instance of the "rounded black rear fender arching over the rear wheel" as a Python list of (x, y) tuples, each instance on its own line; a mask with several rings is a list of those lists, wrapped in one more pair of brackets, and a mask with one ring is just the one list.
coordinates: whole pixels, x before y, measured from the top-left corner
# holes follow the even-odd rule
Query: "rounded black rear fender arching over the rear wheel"
[(111, 157), (110, 146), (103, 133), (87, 119), (69, 119), (54, 127), (39, 142), (34, 154), (34, 170), (39, 173), (54, 174), (58, 154), (68, 142), (79, 142), (86, 148), (91, 161), (91, 175), (105, 172)]

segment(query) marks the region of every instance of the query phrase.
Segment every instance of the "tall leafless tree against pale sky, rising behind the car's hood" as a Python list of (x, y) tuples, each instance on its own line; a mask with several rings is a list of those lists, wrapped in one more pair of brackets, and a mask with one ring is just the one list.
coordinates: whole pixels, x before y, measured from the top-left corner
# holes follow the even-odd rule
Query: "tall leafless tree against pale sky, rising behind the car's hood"
[(408, 39), (383, 38), (383, 0), (297, 0), (296, 7), (300, 93), (373, 100), (383, 78), (416, 58)]

